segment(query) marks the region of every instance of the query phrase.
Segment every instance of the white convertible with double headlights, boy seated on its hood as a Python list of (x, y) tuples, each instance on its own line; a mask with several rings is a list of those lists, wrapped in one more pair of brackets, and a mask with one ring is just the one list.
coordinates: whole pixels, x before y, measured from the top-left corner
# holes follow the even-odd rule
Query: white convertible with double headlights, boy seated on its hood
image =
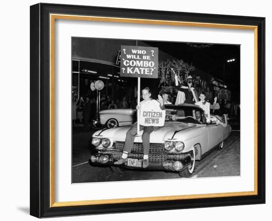
[[(166, 120), (163, 127), (155, 128), (150, 134), (149, 166), (142, 168), (143, 147), (140, 132), (135, 138), (129, 160), (122, 165), (114, 165), (123, 151), (126, 133), (131, 125), (103, 129), (92, 135), (93, 165), (110, 166), (114, 172), (122, 168), (142, 170), (169, 170), (181, 177), (190, 177), (195, 161), (201, 160), (215, 147), (223, 148), (224, 140), (231, 132), (227, 117), (211, 116), (207, 123), (203, 110), (196, 105), (166, 105)], [(201, 114), (200, 120), (195, 117)], [(199, 113), (198, 112), (198, 113)]]

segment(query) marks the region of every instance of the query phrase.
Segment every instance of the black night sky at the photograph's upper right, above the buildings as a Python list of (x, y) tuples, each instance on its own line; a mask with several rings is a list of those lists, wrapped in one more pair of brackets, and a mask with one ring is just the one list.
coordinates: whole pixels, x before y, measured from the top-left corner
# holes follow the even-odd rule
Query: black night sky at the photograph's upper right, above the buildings
[[(240, 88), (240, 45), (144, 41), (178, 59), (182, 59), (216, 78), (224, 80), (230, 90)], [(234, 62), (227, 62), (235, 59)], [(225, 63), (225, 77), (224, 77)]]

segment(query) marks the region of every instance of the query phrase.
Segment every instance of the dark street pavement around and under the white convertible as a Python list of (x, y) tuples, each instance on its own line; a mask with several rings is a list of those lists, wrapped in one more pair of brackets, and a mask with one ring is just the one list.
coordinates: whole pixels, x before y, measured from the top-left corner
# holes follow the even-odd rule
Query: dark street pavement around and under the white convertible
[[(240, 175), (240, 131), (232, 132), (224, 142), (224, 148), (215, 149), (205, 158), (195, 163), (193, 178), (201, 177), (224, 177)], [(123, 173), (113, 173), (110, 167), (91, 166), (88, 162), (91, 155), (91, 136), (96, 131), (74, 130), (73, 155), (72, 155), (72, 182), (109, 182), (109, 181), (133, 181), (133, 180), (156, 180), (177, 179), (178, 173), (169, 171), (141, 171), (127, 169)]]

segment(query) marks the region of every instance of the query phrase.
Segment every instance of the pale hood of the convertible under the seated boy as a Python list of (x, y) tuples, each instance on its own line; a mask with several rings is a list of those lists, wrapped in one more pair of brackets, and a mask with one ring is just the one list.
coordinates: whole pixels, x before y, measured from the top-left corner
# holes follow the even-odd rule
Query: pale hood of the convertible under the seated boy
[[(155, 127), (155, 130), (150, 134), (150, 143), (163, 143), (165, 140), (176, 138), (176, 135), (178, 134), (179, 139), (182, 139), (182, 131), (191, 130), (195, 126), (196, 125), (193, 124), (165, 123), (163, 127)], [(110, 138), (113, 141), (125, 141), (126, 133), (131, 127), (132, 125), (100, 130), (95, 132), (93, 137), (105, 137)], [(136, 136), (135, 142), (142, 142), (142, 132), (143, 131), (140, 131), (139, 135)]]

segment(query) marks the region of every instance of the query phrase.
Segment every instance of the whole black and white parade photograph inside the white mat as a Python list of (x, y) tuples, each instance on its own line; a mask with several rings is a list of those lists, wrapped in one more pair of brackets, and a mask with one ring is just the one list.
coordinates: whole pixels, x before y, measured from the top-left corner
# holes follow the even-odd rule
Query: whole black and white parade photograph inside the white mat
[(240, 45), (72, 37), (72, 183), (240, 176)]

